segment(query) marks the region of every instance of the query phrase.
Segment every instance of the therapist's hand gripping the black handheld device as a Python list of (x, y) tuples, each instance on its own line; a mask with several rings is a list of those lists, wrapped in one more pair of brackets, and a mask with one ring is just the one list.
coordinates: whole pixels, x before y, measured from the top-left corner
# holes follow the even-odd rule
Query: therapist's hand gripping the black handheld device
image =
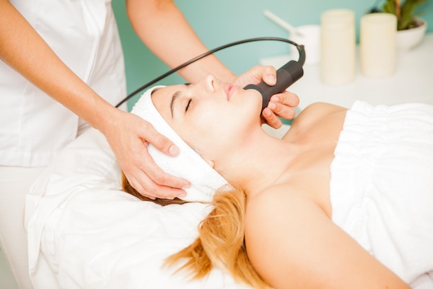
[[(267, 85), (275, 85), (277, 83), (277, 71), (274, 67), (270, 66), (256, 66), (252, 69), (242, 73), (234, 80), (234, 83), (245, 87), (246, 85), (257, 83), (264, 80)], [(262, 123), (267, 123), (273, 128), (279, 128), (282, 125), (281, 119), (293, 119), (295, 117), (295, 110), (293, 107), (300, 103), (300, 99), (296, 94), (284, 91), (281, 94), (275, 94), (270, 98), (269, 104), (263, 112), (261, 112)]]

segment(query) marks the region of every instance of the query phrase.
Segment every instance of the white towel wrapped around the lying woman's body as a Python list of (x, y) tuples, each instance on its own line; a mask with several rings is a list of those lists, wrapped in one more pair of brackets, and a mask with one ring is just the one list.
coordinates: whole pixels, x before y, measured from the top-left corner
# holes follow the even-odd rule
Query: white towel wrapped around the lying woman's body
[(336, 225), (407, 283), (433, 288), (433, 106), (354, 103), (330, 189)]

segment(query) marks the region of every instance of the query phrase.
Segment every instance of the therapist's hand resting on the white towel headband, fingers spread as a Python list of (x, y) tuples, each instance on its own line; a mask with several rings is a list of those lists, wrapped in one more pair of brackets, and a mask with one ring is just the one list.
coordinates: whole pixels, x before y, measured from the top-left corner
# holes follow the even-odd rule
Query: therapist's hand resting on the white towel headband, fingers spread
[(190, 186), (190, 182), (163, 172), (147, 152), (147, 146), (151, 143), (161, 152), (175, 156), (179, 150), (174, 143), (139, 116), (120, 110), (116, 114), (118, 116), (104, 125), (107, 130), (103, 133), (129, 184), (141, 195), (153, 200), (172, 200), (185, 195), (181, 188)]

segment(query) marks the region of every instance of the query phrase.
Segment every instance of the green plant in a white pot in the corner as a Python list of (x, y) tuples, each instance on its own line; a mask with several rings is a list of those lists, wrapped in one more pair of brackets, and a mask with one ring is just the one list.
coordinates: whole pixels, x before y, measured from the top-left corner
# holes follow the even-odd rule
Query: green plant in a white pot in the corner
[[(397, 17), (397, 48), (409, 50), (417, 46), (425, 35), (427, 22), (418, 17), (418, 8), (428, 0), (385, 0), (382, 8), (373, 8), (371, 12), (386, 12)], [(377, 3), (377, 2), (376, 2)]]

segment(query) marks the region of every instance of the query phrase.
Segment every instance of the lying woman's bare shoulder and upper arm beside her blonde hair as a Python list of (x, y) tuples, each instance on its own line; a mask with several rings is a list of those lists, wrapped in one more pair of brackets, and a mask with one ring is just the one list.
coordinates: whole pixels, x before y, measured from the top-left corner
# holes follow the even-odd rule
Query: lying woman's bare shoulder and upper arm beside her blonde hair
[(269, 188), (247, 204), (248, 256), (270, 286), (409, 288), (304, 198), (306, 194), (286, 189)]

